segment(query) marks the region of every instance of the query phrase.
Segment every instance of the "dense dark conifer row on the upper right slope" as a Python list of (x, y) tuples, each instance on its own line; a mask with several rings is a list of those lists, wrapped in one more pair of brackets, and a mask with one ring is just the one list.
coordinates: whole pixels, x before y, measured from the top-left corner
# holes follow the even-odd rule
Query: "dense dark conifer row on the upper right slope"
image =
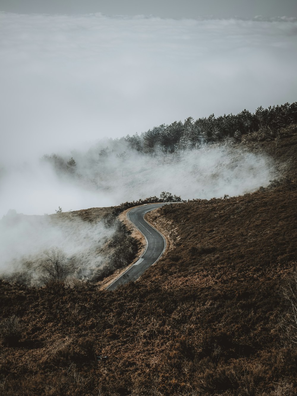
[(198, 118), (188, 117), (185, 122), (175, 121), (170, 125), (148, 129), (138, 135), (137, 133), (124, 139), (130, 148), (150, 153), (156, 147), (165, 152), (190, 149), (197, 143), (215, 143), (228, 138), (240, 139), (242, 135), (267, 130), (271, 138), (277, 136), (281, 128), (297, 123), (297, 102), (292, 104), (269, 106), (264, 109), (258, 107), (255, 113), (243, 110), (238, 114), (224, 114), (215, 117)]

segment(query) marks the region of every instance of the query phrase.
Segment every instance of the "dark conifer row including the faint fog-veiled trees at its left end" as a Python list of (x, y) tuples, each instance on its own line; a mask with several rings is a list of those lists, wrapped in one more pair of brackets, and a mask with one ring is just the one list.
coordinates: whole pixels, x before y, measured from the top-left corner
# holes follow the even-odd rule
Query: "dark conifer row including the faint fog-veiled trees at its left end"
[[(103, 169), (107, 161), (112, 158), (114, 166), (123, 166), (127, 160), (128, 152), (134, 151), (143, 154), (178, 154), (184, 150), (191, 150), (203, 143), (219, 143), (226, 139), (240, 141), (244, 135), (260, 132), (265, 139), (277, 139), (282, 128), (297, 124), (297, 102), (284, 105), (269, 106), (264, 109), (258, 107), (254, 113), (243, 110), (238, 114), (224, 114), (194, 120), (188, 117), (184, 122), (174, 121), (172, 124), (161, 124), (148, 131), (121, 138), (108, 139), (108, 146), (103, 142), (97, 146), (96, 164), (101, 164)], [(96, 150), (95, 147), (92, 151)], [(58, 173), (82, 177), (77, 170), (73, 157), (69, 160), (57, 155), (44, 155), (43, 160), (51, 163)], [(95, 164), (94, 158), (88, 158), (89, 167)]]

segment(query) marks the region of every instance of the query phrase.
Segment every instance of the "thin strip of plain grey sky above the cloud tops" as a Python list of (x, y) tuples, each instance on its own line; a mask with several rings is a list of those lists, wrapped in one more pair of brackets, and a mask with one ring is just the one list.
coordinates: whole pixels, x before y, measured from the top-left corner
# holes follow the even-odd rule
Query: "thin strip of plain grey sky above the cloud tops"
[(0, 0), (0, 10), (16, 13), (95, 13), (196, 18), (213, 15), (297, 17), (296, 0)]

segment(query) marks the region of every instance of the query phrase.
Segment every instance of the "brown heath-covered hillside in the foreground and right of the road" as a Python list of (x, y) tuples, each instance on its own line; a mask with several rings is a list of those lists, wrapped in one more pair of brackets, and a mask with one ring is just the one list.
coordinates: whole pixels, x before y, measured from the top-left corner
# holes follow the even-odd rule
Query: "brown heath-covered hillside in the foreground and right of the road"
[(149, 213), (170, 246), (137, 282), (0, 283), (1, 394), (297, 394), (296, 127), (239, 144), (282, 178)]

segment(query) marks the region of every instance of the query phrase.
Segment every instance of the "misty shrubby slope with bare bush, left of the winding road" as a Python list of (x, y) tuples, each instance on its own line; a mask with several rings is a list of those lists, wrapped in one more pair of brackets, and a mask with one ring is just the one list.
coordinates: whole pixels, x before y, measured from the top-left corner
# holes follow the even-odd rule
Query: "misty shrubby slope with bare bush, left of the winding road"
[(139, 249), (110, 208), (0, 219), (0, 277), (27, 286), (101, 281), (130, 264)]

